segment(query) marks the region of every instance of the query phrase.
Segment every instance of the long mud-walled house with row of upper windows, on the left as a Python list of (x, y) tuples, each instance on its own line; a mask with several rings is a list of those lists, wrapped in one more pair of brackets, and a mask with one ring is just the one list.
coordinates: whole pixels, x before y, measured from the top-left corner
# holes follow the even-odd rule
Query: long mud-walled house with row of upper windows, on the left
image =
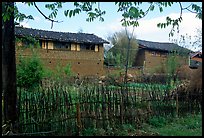
[(71, 65), (78, 75), (102, 75), (104, 63), (104, 43), (108, 41), (87, 33), (54, 32), (31, 28), (15, 27), (17, 57), (30, 56), (31, 50), (25, 47), (27, 41), (20, 38), (35, 38), (39, 41), (38, 54), (43, 63), (51, 69)]

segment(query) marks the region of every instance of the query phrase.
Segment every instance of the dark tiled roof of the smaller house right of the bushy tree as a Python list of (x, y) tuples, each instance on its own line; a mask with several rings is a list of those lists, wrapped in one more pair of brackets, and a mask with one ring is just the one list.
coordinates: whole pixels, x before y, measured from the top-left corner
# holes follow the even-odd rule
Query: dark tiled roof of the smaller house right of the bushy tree
[(144, 47), (144, 48), (148, 48), (148, 49), (152, 49), (152, 50), (161, 50), (161, 51), (166, 51), (166, 52), (170, 52), (170, 51), (180, 51), (180, 52), (190, 52), (191, 50), (187, 49), (187, 48), (183, 48), (177, 44), (174, 43), (166, 43), (166, 42), (151, 42), (151, 41), (145, 41), (145, 40), (139, 40), (137, 39), (137, 42), (140, 46)]

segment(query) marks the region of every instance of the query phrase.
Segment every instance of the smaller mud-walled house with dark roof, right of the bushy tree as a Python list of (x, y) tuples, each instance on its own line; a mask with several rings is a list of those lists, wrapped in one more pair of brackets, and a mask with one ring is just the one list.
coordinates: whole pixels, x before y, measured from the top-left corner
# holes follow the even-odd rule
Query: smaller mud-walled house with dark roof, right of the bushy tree
[(165, 64), (167, 55), (169, 53), (177, 52), (181, 64), (188, 64), (188, 58), (184, 58), (182, 55), (188, 55), (189, 49), (178, 46), (174, 43), (164, 42), (151, 42), (145, 40), (138, 41), (138, 53), (135, 57), (134, 66), (143, 67), (146, 71), (153, 70), (163, 64)]

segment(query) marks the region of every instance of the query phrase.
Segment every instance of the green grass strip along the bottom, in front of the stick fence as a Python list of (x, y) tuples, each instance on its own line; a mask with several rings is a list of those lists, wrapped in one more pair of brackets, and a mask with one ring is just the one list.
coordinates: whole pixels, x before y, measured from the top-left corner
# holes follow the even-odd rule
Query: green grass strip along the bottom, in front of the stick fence
[(202, 136), (202, 115), (180, 118), (152, 117), (141, 129), (130, 124), (115, 128), (87, 128), (82, 136)]

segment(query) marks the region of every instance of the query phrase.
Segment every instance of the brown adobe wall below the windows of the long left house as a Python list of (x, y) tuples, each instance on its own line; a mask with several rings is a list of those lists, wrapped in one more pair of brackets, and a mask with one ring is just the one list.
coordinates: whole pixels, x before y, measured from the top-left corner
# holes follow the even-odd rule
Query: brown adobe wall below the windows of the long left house
[[(103, 47), (99, 47), (99, 52), (94, 51), (57, 51), (46, 49), (35, 49), (42, 59), (45, 66), (56, 69), (57, 65), (66, 66), (71, 64), (71, 69), (75, 74), (84, 75), (103, 75)], [(29, 48), (16, 50), (16, 57), (21, 53), (22, 56), (32, 54)]]

